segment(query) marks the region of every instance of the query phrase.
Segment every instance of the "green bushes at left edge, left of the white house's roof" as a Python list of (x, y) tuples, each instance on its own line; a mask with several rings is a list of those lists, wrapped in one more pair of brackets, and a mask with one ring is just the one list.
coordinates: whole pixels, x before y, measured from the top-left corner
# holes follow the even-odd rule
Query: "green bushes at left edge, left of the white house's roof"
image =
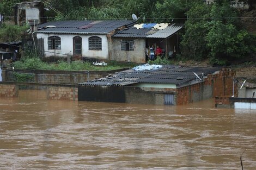
[(21, 35), (28, 29), (28, 26), (9, 26), (4, 24), (0, 29), (0, 42), (11, 42), (21, 40)]

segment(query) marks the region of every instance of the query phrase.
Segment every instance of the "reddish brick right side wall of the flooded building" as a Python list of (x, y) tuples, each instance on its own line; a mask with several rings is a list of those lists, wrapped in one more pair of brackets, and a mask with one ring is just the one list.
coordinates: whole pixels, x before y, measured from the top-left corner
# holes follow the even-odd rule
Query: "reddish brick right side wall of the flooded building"
[[(208, 75), (202, 83), (177, 89), (176, 103), (181, 105), (216, 96), (232, 96), (234, 77), (234, 71), (228, 68), (223, 68), (216, 74)], [(237, 94), (236, 86), (235, 94)]]

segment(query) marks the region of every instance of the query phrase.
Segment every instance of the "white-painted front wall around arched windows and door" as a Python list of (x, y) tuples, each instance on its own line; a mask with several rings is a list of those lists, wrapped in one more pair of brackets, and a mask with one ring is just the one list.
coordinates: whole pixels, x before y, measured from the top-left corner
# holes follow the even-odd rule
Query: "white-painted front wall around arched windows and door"
[[(48, 49), (48, 37), (59, 36), (61, 39), (61, 49)], [(75, 34), (42, 34), (38, 33), (36, 37), (38, 39), (44, 39), (44, 51), (45, 57), (59, 56), (66, 57), (64, 54), (73, 55), (73, 37), (80, 36), (82, 38), (82, 56), (96, 59), (108, 59), (108, 40), (106, 35), (75, 35)], [(91, 36), (101, 37), (102, 50), (101, 51), (89, 51), (88, 39)], [(61, 54), (57, 54), (61, 53)]]

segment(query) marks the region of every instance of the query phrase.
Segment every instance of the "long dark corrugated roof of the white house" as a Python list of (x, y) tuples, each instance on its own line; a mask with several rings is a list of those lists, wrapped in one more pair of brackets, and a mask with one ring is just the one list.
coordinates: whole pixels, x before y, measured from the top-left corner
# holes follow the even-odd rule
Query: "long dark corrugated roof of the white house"
[(53, 34), (108, 34), (115, 29), (135, 23), (131, 20), (120, 21), (52, 21), (38, 26), (37, 33)]

